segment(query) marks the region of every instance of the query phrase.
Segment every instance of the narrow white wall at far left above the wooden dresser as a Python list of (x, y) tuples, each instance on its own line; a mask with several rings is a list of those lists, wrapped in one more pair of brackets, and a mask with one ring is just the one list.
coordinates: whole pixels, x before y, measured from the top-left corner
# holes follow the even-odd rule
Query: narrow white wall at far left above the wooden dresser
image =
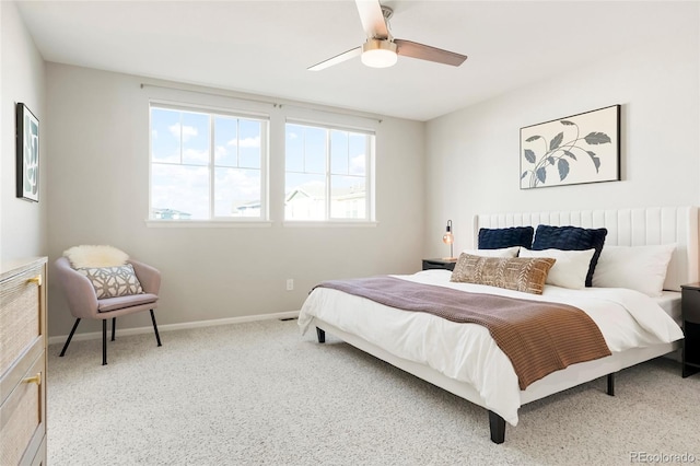
[[(0, 2), (0, 259), (46, 255), (47, 150), (44, 118), (44, 59), (16, 7)], [(15, 105), (24, 103), (39, 120), (39, 202), (19, 199), (15, 189)]]

